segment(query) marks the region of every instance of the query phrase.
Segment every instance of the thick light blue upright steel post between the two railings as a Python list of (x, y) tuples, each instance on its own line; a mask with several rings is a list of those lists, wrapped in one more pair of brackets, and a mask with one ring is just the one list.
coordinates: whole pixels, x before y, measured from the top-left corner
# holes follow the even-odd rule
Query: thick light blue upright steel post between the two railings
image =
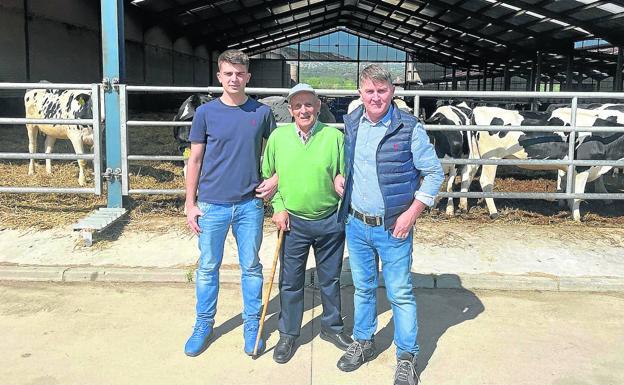
[(125, 82), (124, 58), (124, 1), (107, 0), (101, 3), (102, 58), (105, 84), (104, 106), (106, 113), (106, 168), (113, 172), (108, 179), (108, 207), (122, 207), (121, 137), (119, 126), (119, 88)]

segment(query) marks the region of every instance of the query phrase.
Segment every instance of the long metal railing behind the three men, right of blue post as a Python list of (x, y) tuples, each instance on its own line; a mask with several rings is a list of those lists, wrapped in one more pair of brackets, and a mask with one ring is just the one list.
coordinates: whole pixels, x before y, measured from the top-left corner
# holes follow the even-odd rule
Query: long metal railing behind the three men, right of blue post
[[(288, 88), (247, 88), (247, 93), (252, 95), (286, 95)], [(128, 194), (184, 194), (183, 189), (133, 189), (128, 180), (128, 163), (131, 161), (182, 161), (182, 156), (171, 155), (133, 155), (128, 153), (127, 138), (128, 129), (131, 127), (173, 127), (190, 126), (191, 122), (180, 121), (149, 121), (149, 120), (127, 120), (127, 98), (129, 92), (146, 93), (221, 93), (221, 87), (157, 87), (157, 86), (120, 86), (120, 117), (122, 136), (122, 191)], [(316, 90), (320, 96), (357, 96), (355, 90)], [(568, 159), (546, 160), (546, 159), (442, 159), (443, 164), (474, 164), (474, 165), (540, 165), (540, 166), (567, 166), (567, 174), (574, 175), (576, 166), (613, 166), (624, 167), (624, 160), (576, 160), (574, 158), (575, 138), (578, 132), (624, 132), (624, 127), (583, 127), (576, 125), (576, 113), (579, 99), (602, 100), (619, 99), (624, 101), (624, 93), (606, 92), (510, 92), (510, 91), (397, 91), (397, 96), (414, 98), (414, 113), (420, 108), (420, 99), (423, 97), (436, 97), (439, 99), (450, 98), (490, 98), (490, 99), (556, 99), (569, 100), (571, 105), (571, 125), (570, 126), (455, 126), (455, 125), (427, 125), (427, 130), (439, 131), (525, 131), (525, 132), (565, 132), (569, 133)], [(335, 123), (331, 126), (342, 128), (344, 125)], [(576, 193), (574, 192), (574, 178), (567, 178), (566, 191), (543, 193), (543, 192), (440, 192), (440, 197), (468, 197), (468, 198), (521, 198), (521, 199), (624, 199), (622, 193)]]

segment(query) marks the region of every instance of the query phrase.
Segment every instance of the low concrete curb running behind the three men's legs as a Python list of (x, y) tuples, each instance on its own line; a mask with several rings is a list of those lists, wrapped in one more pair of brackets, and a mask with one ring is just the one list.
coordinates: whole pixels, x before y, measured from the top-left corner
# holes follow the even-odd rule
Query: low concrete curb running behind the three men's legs
[[(270, 270), (263, 271), (265, 280)], [(192, 267), (145, 268), (100, 266), (0, 266), (0, 281), (44, 282), (177, 282), (194, 280)], [(277, 282), (278, 274), (274, 282)], [(240, 284), (240, 271), (222, 269), (223, 283)], [(316, 270), (306, 273), (306, 285), (316, 285)], [(576, 292), (624, 292), (624, 277), (557, 277), (536, 275), (485, 274), (417, 274), (412, 273), (412, 283), (417, 289), (468, 289), (468, 290), (539, 290)], [(341, 275), (342, 286), (352, 286), (349, 271)], [(383, 276), (379, 285), (384, 286)]]

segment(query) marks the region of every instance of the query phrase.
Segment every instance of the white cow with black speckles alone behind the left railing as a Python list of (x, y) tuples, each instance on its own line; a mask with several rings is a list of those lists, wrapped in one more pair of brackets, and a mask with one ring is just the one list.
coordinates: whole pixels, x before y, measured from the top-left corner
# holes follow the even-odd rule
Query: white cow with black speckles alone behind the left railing
[[(91, 92), (86, 90), (32, 89), (24, 95), (28, 119), (91, 119)], [(39, 131), (46, 135), (45, 153), (50, 154), (57, 139), (69, 139), (76, 154), (84, 154), (84, 145), (93, 146), (93, 127), (75, 124), (27, 124), (28, 151), (37, 152)], [(78, 184), (86, 184), (84, 159), (78, 160)], [(52, 160), (46, 159), (46, 171), (52, 173)], [(35, 160), (28, 165), (28, 175), (35, 173)]]

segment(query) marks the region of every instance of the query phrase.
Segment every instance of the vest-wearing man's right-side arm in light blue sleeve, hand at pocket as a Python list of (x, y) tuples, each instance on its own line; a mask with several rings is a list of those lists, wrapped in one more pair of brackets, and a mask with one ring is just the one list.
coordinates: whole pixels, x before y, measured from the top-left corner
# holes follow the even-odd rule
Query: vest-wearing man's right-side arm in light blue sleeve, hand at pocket
[(392, 230), (392, 236), (396, 238), (407, 237), (425, 207), (433, 205), (435, 196), (444, 181), (444, 171), (440, 160), (420, 123), (416, 124), (412, 132), (411, 148), (414, 167), (420, 171), (422, 183), (414, 194), (414, 201), (410, 207), (397, 218)]

